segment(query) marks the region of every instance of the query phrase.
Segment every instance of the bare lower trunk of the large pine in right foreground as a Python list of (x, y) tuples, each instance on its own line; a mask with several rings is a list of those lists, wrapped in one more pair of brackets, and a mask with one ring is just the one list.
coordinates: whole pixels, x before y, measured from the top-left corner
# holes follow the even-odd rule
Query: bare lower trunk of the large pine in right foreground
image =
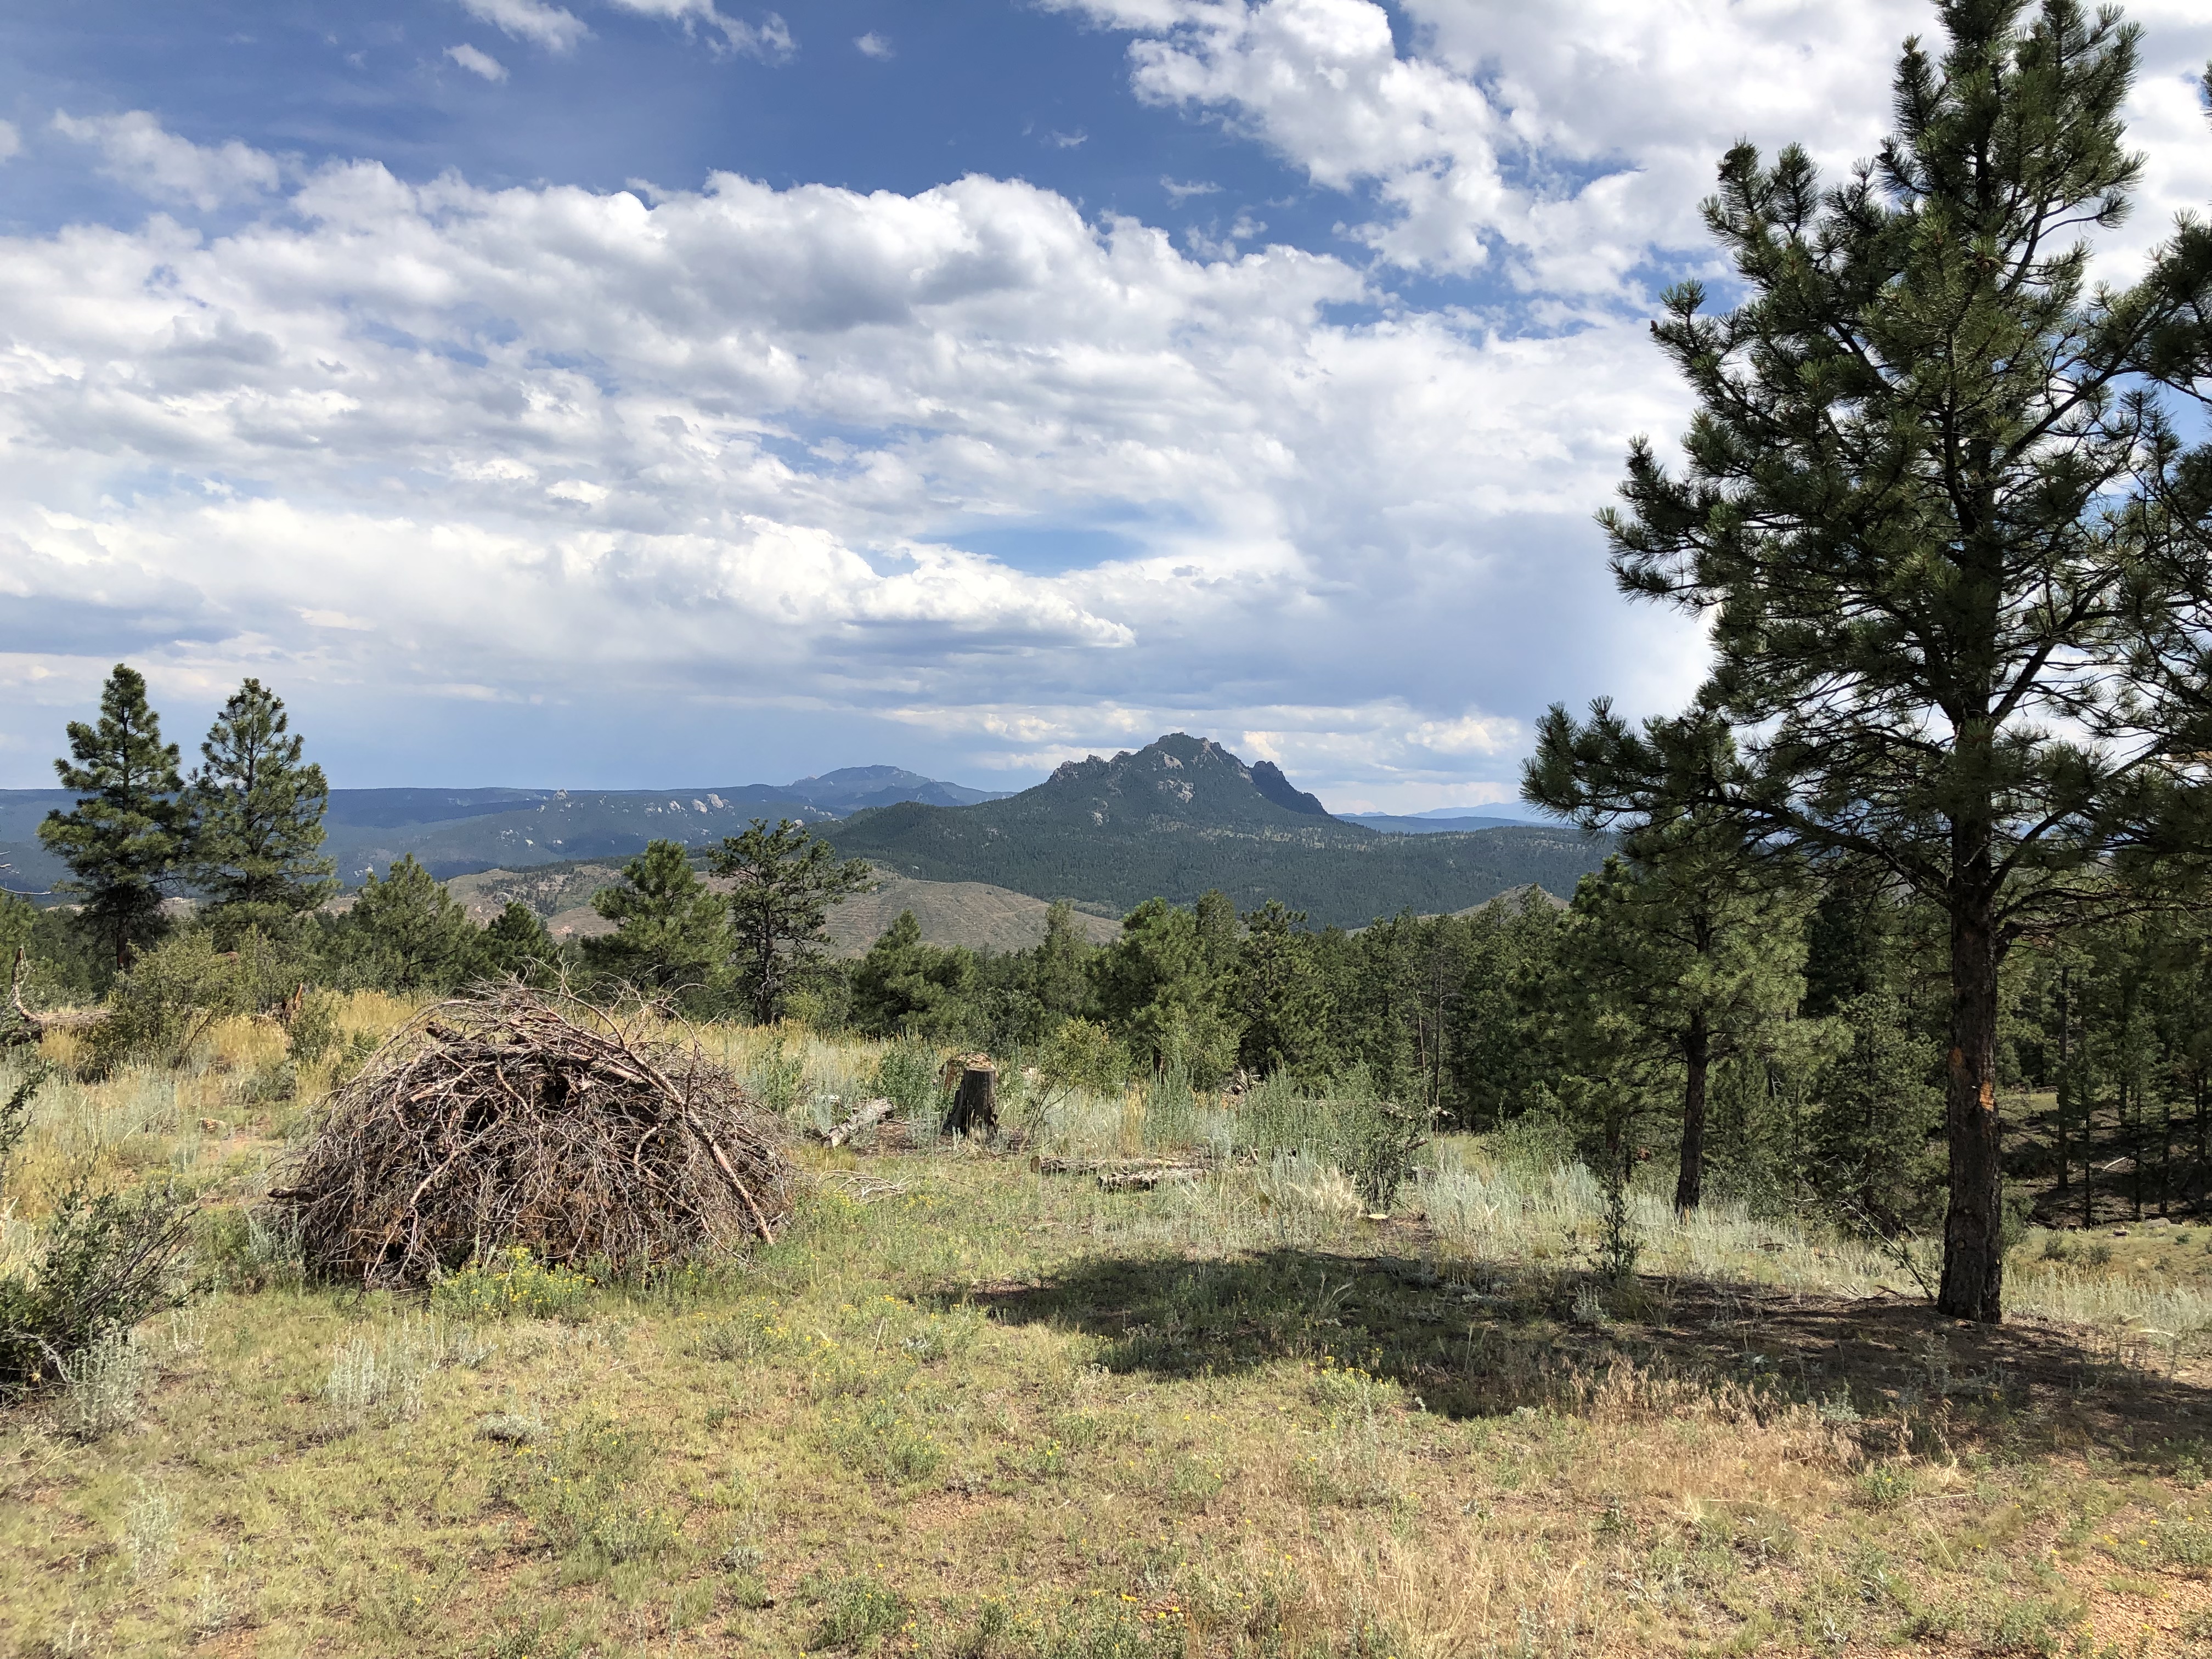
[(1951, 1208), (1942, 1225), (1936, 1310), (1995, 1325), (2004, 1318), (1997, 929), (1989, 889), (1966, 887), (1971, 869), (1962, 869), (1960, 878), (1951, 900), (1951, 1055), (1944, 1068)]

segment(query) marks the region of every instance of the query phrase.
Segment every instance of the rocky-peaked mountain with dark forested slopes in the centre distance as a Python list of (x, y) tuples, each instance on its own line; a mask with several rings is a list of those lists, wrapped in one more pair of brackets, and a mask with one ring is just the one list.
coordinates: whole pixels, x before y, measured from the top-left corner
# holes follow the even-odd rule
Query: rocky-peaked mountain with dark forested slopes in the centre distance
[(823, 834), (845, 856), (922, 880), (1117, 909), (1219, 887), (1239, 909), (1281, 898), (1340, 927), (1400, 909), (1460, 911), (1528, 885), (1564, 896), (1606, 852), (1566, 827), (1416, 836), (1345, 823), (1272, 763), (1245, 765), (1188, 732), (1068, 761), (1035, 790), (998, 801), (909, 801), (856, 812)]

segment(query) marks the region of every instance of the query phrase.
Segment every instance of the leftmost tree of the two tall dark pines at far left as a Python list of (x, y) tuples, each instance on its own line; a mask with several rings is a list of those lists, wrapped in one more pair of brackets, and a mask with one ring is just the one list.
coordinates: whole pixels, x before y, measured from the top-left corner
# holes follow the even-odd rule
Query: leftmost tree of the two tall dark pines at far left
[(146, 677), (115, 664), (100, 688), (100, 723), (69, 723), (69, 759), (53, 763), (69, 812), (49, 812), (38, 838), (62, 863), (62, 891), (80, 894), (77, 925), (100, 940), (115, 969), (161, 933), (161, 898), (186, 849), (177, 745), (146, 701)]

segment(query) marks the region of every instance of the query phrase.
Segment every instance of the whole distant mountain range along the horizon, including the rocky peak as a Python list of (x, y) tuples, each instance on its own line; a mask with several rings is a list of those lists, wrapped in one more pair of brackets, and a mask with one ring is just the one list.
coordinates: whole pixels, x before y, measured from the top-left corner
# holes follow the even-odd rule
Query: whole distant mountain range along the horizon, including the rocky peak
[[(0, 863), (13, 865), (0, 883), (44, 891), (64, 874), (38, 845), (38, 821), (73, 799), (0, 790)], [(1400, 909), (1451, 914), (1528, 885), (1566, 896), (1606, 852), (1568, 827), (1336, 818), (1272, 761), (1248, 765), (1186, 732), (1068, 761), (1020, 794), (896, 765), (688, 790), (332, 790), (325, 847), (354, 887), (409, 854), (440, 878), (619, 863), (648, 841), (699, 847), (752, 818), (821, 825), (841, 854), (885, 876), (1113, 911), (1152, 896), (1188, 902), (1219, 887), (1239, 909), (1281, 898), (1318, 927), (1358, 927)], [(553, 909), (586, 898), (562, 894)], [(1024, 907), (1009, 909), (1011, 898), (980, 889), (942, 902), (951, 905), (945, 927), (967, 918), (958, 927), (982, 929), (978, 940), (1040, 925)], [(975, 920), (987, 914), (995, 920)]]

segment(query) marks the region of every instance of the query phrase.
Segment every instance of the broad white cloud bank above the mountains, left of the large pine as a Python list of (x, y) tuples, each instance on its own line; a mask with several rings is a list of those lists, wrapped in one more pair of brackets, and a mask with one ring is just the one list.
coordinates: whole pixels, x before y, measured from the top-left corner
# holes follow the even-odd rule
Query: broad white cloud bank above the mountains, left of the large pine
[[(1188, 726), (1425, 779), (1509, 763), (1462, 721), (1617, 650), (1586, 513), (1674, 425), (1635, 330), (1332, 321), (1371, 299), (1343, 261), (1192, 259), (1020, 181), (349, 164), (283, 206), (0, 239), (0, 533), (88, 615), (159, 571), (166, 672), (925, 730), (1018, 681), (1064, 712), (980, 763)], [(1042, 571), (1002, 540), (1093, 524)]]

